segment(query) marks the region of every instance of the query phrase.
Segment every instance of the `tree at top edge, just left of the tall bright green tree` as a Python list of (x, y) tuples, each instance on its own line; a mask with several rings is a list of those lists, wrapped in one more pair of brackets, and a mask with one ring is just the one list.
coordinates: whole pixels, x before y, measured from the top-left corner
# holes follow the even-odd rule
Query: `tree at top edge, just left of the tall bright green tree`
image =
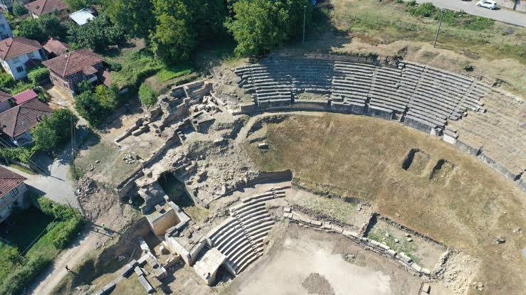
[(130, 36), (147, 38), (155, 26), (151, 0), (111, 0), (105, 6), (111, 21)]

